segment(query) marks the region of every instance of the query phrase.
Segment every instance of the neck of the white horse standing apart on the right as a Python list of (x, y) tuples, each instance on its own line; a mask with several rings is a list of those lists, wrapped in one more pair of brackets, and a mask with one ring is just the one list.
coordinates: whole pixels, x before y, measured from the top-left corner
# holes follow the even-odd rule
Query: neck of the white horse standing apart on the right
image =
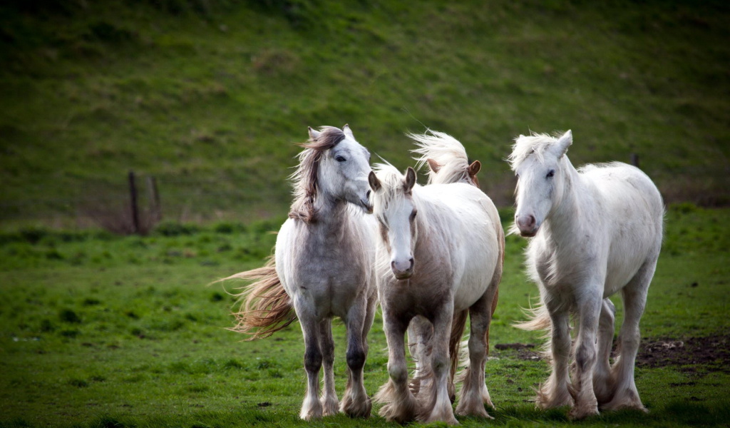
[(582, 221), (579, 195), (585, 193), (585, 188), (568, 156), (564, 156), (562, 162), (563, 190), (560, 199), (553, 204), (553, 208), (545, 218), (544, 225), (553, 240), (575, 236), (575, 231), (580, 228), (580, 221)]

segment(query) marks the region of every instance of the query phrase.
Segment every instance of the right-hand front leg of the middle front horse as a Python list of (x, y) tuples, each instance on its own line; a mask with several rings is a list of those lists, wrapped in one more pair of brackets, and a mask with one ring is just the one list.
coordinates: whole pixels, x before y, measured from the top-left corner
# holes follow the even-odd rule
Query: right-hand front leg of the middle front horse
[(434, 421), (457, 425), (449, 397), (448, 383), (450, 375), (449, 339), (451, 323), (453, 321), (453, 299), (447, 299), (447, 305), (434, 310), (436, 315), (431, 319), (434, 326), (431, 338), (431, 383), (429, 389), (421, 387), (418, 394), (420, 412), (419, 421), (426, 423)]

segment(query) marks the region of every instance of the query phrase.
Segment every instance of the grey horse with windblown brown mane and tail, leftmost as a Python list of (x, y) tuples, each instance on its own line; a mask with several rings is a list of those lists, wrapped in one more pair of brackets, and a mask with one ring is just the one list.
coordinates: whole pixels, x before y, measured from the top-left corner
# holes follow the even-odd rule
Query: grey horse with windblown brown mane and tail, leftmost
[[(291, 175), (294, 200), (277, 235), (274, 258), (259, 269), (231, 275), (256, 280), (244, 288), (235, 313), (235, 331), (250, 340), (268, 337), (299, 319), (304, 336), (307, 394), (299, 417), (316, 419), (337, 413), (334, 340), (331, 318), (347, 326), (347, 386), (339, 410), (369, 417), (372, 402), (363, 384), (377, 291), (374, 285), (374, 238), (369, 203), (370, 153), (349, 126), (309, 129), (301, 145), (299, 167)], [(324, 391), (318, 397), (319, 372)]]

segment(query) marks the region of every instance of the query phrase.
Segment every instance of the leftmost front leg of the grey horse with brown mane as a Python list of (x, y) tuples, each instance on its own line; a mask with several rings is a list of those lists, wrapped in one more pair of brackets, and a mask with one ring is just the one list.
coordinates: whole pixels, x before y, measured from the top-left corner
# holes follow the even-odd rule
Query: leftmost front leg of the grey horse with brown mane
[(318, 323), (314, 317), (304, 316), (301, 310), (297, 310), (296, 313), (304, 335), (304, 370), (307, 370), (307, 395), (301, 405), (299, 417), (308, 421), (322, 417), (322, 403), (318, 397), (322, 351), (319, 344)]

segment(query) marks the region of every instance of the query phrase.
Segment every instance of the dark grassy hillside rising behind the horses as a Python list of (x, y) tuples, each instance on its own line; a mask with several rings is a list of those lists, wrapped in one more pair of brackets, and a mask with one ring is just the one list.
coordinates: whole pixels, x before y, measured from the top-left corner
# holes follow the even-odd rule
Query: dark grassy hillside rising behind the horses
[(628, 161), (668, 199), (729, 201), (724, 1), (15, 0), (0, 6), (0, 220), (117, 206), (157, 177), (166, 218), (262, 218), (293, 144), (350, 123), (405, 167), (453, 134), (510, 205), (503, 159), (572, 129), (574, 164)]

